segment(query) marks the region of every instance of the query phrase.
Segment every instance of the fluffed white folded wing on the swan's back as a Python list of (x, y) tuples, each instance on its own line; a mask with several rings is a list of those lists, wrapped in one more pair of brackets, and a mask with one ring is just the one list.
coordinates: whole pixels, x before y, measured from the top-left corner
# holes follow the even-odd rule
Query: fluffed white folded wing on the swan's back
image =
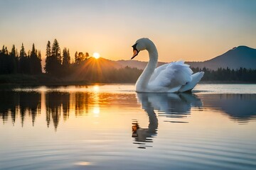
[(193, 71), (189, 68), (189, 65), (184, 64), (183, 61), (171, 62), (159, 70), (154, 80), (149, 81), (149, 86), (151, 88), (168, 88), (178, 91), (181, 86), (188, 84), (192, 80), (192, 73)]

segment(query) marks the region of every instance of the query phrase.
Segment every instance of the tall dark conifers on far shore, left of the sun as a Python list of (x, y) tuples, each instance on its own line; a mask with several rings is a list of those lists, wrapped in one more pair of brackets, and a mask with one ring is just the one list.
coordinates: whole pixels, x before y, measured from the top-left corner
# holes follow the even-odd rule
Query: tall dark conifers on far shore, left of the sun
[[(61, 55), (60, 45), (55, 39), (52, 46), (50, 41), (46, 45), (46, 65), (43, 69), (50, 76), (65, 77), (70, 74), (72, 64), (80, 64), (88, 57), (88, 52), (75, 52), (75, 61), (71, 63), (69, 49), (64, 47)], [(23, 43), (19, 52), (15, 45), (12, 46), (11, 52), (3, 45), (0, 50), (0, 74), (42, 74), (41, 61), (41, 51), (36, 49), (34, 43), (28, 52)]]

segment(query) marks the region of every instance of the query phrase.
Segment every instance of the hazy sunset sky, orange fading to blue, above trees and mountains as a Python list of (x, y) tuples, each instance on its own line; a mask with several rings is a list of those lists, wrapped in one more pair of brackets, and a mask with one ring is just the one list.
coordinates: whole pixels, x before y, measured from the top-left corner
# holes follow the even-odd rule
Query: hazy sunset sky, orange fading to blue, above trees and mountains
[[(34, 42), (45, 58), (46, 43), (129, 60), (132, 45), (150, 38), (159, 60), (204, 61), (230, 48), (256, 48), (256, 1), (0, 0), (0, 45)], [(137, 60), (147, 60), (141, 52)]]

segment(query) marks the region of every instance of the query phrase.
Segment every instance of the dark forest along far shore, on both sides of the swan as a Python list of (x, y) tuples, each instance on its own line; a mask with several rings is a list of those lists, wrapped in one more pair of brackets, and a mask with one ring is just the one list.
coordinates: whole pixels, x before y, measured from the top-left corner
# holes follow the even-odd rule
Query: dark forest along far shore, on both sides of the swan
[[(142, 69), (114, 67), (104, 58), (95, 59), (88, 52), (75, 52), (71, 61), (67, 47), (60, 50), (58, 40), (46, 45), (46, 64), (42, 72), (41, 51), (32, 45), (26, 52), (13, 45), (11, 52), (3, 45), (0, 50), (0, 83), (16, 84), (90, 84), (90, 83), (135, 83)], [(192, 68), (193, 72), (205, 72), (202, 81), (256, 82), (256, 69)]]

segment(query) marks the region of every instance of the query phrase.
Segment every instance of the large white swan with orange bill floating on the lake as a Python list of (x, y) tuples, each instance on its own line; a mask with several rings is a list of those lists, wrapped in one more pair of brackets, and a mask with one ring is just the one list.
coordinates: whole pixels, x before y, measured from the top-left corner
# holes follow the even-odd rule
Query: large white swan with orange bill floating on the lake
[(136, 82), (137, 92), (185, 92), (191, 91), (203, 77), (204, 72), (193, 71), (183, 61), (171, 62), (156, 68), (158, 53), (149, 38), (141, 38), (133, 47), (136, 57), (141, 50), (149, 52), (149, 63)]

